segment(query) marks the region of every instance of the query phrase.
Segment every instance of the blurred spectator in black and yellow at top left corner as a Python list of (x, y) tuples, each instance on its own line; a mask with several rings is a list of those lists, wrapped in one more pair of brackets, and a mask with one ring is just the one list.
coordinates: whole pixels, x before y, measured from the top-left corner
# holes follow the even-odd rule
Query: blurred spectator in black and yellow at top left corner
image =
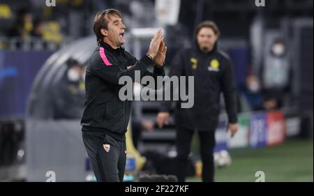
[(17, 12), (17, 19), (10, 29), (8, 36), (29, 38), (31, 31), (33, 30), (33, 16), (29, 10), (22, 8)]

